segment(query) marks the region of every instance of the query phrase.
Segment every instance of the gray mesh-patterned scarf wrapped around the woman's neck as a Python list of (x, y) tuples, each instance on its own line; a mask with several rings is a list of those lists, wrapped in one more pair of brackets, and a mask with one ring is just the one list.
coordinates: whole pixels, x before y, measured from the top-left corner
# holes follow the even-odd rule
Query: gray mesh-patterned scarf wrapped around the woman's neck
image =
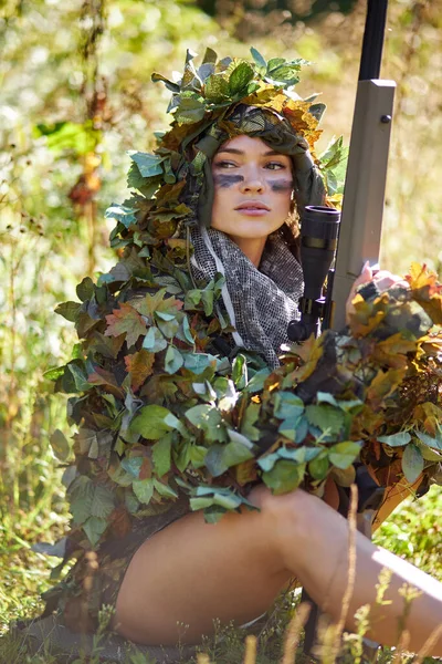
[(288, 341), (288, 322), (299, 318), (304, 289), (301, 264), (284, 240), (276, 234), (269, 237), (259, 268), (220, 230), (193, 227), (191, 241), (194, 279), (209, 282), (217, 273), (225, 278), (221, 297), (236, 346), (256, 351), (272, 369), (278, 366), (281, 344)]

